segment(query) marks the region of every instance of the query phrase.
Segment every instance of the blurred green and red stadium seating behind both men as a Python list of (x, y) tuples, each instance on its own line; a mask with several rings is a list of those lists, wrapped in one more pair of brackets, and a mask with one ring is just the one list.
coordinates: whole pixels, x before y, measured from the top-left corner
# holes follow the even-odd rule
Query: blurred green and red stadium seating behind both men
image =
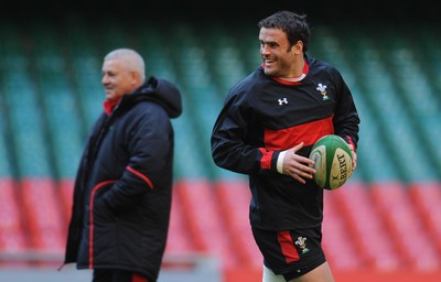
[[(175, 82), (183, 94), (184, 113), (172, 121), (175, 187), (166, 253), (214, 253), (225, 268), (260, 267), (246, 181), (215, 166), (209, 148), (228, 88), (260, 64), (254, 29), (218, 22), (92, 26), (80, 19), (1, 25), (0, 254), (61, 258), (77, 162), (104, 99), (103, 56), (133, 47), (146, 56), (148, 75)], [(310, 54), (342, 72), (362, 118), (357, 171), (345, 188), (326, 192), (323, 245), (336, 269), (440, 267), (439, 32), (313, 29)]]

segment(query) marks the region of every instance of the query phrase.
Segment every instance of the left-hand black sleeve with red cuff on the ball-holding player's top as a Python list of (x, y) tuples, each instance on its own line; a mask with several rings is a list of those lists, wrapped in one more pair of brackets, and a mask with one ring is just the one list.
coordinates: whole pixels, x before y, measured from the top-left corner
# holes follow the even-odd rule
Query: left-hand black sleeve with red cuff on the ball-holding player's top
[(219, 167), (236, 173), (276, 172), (279, 151), (268, 151), (263, 144), (247, 141), (247, 138), (258, 129), (244, 99), (244, 95), (230, 94), (227, 97), (213, 127), (212, 158)]

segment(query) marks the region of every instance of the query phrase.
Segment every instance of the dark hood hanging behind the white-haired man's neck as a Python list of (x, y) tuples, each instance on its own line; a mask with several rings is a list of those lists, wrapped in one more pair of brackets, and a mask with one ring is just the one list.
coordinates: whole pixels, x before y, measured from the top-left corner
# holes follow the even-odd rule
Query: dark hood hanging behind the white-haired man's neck
[(181, 91), (166, 79), (151, 76), (141, 87), (130, 95), (125, 95), (120, 106), (151, 100), (160, 104), (170, 118), (178, 118), (182, 113)]

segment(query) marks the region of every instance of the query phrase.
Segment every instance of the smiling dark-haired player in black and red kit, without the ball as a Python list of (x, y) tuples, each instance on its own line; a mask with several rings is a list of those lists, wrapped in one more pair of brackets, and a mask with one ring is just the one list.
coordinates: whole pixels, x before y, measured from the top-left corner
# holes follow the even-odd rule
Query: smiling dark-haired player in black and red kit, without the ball
[(330, 64), (306, 54), (304, 15), (277, 12), (258, 23), (263, 63), (232, 87), (212, 133), (215, 163), (249, 175), (249, 219), (263, 256), (263, 282), (332, 282), (322, 250), (323, 189), (309, 153), (337, 134), (353, 149), (359, 118)]

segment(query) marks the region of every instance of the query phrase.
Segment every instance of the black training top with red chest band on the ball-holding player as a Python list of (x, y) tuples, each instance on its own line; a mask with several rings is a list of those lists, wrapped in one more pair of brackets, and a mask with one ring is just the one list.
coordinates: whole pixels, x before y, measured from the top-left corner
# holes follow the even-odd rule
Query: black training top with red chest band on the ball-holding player
[(212, 133), (214, 162), (249, 175), (250, 223), (256, 228), (287, 230), (319, 227), (323, 191), (277, 172), (281, 151), (300, 142), (309, 156), (321, 137), (335, 133), (356, 147), (359, 118), (341, 74), (305, 56), (306, 76), (295, 84), (265, 75), (262, 67), (229, 90)]

